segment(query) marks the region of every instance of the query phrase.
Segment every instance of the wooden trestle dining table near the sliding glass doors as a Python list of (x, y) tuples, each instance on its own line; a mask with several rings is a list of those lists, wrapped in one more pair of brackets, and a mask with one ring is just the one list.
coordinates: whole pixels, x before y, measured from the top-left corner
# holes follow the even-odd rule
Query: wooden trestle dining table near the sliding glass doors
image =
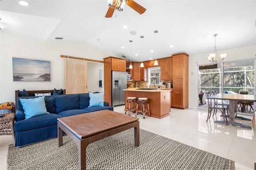
[[(235, 118), (241, 118), (237, 117), (237, 102), (256, 102), (256, 95), (250, 95), (250, 94), (225, 94), (225, 93), (218, 93), (214, 96), (208, 96), (210, 99), (214, 100), (228, 100), (229, 101), (229, 121), (227, 121), (228, 125), (234, 125), (239, 127), (244, 127), (248, 129), (252, 129), (252, 127), (248, 125), (244, 125), (242, 123), (235, 122)], [(255, 105), (254, 105), (255, 106)], [(255, 109), (255, 107), (254, 107)], [(224, 121), (216, 120), (215, 123), (223, 123)]]

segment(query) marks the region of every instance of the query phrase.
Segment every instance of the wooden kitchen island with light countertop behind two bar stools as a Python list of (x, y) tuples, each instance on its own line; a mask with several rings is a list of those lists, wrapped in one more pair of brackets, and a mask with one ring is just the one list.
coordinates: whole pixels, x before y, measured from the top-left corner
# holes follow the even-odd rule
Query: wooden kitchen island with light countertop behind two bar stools
[[(148, 98), (149, 99), (149, 109), (150, 116), (161, 119), (170, 115), (170, 91), (162, 89), (124, 89), (125, 98), (136, 97), (138, 98)], [(138, 106), (141, 108), (141, 105)], [(148, 115), (148, 113), (146, 113)]]

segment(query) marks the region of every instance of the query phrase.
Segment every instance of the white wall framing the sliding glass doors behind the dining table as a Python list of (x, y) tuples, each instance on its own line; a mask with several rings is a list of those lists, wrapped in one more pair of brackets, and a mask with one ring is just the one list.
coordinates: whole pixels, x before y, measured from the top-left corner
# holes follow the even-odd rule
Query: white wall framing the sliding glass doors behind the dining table
[[(197, 108), (196, 100), (198, 100), (198, 75), (197, 75), (197, 65), (198, 64), (210, 64), (208, 61), (208, 56), (213, 51), (205, 54), (192, 55), (189, 56), (189, 86), (188, 86), (188, 107), (189, 108)], [(256, 55), (256, 45), (241, 47), (236, 49), (228, 49), (223, 51), (218, 51), (218, 54), (227, 53), (227, 57), (224, 61), (234, 61), (241, 59), (255, 59)], [(254, 68), (255, 69), (255, 68)]]

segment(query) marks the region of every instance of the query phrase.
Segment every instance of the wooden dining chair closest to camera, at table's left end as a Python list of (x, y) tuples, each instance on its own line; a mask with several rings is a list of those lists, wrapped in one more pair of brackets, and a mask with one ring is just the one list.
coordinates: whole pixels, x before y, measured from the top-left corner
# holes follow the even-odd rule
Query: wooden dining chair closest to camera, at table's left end
[[(225, 125), (227, 125), (228, 119), (227, 119), (226, 114), (225, 114), (226, 106), (216, 104), (214, 99), (207, 98), (207, 101), (208, 101), (208, 116), (207, 116), (206, 122), (211, 117), (212, 111), (216, 114), (217, 110), (220, 110), (221, 115), (222, 115), (223, 120), (224, 120), (224, 123), (225, 123)], [(213, 115), (214, 115), (214, 113), (213, 113)]]

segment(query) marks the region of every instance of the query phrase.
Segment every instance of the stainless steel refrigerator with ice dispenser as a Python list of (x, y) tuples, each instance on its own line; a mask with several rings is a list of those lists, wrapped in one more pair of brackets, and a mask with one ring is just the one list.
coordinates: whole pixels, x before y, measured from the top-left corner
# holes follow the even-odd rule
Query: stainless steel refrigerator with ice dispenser
[(112, 71), (112, 106), (125, 104), (126, 72)]

